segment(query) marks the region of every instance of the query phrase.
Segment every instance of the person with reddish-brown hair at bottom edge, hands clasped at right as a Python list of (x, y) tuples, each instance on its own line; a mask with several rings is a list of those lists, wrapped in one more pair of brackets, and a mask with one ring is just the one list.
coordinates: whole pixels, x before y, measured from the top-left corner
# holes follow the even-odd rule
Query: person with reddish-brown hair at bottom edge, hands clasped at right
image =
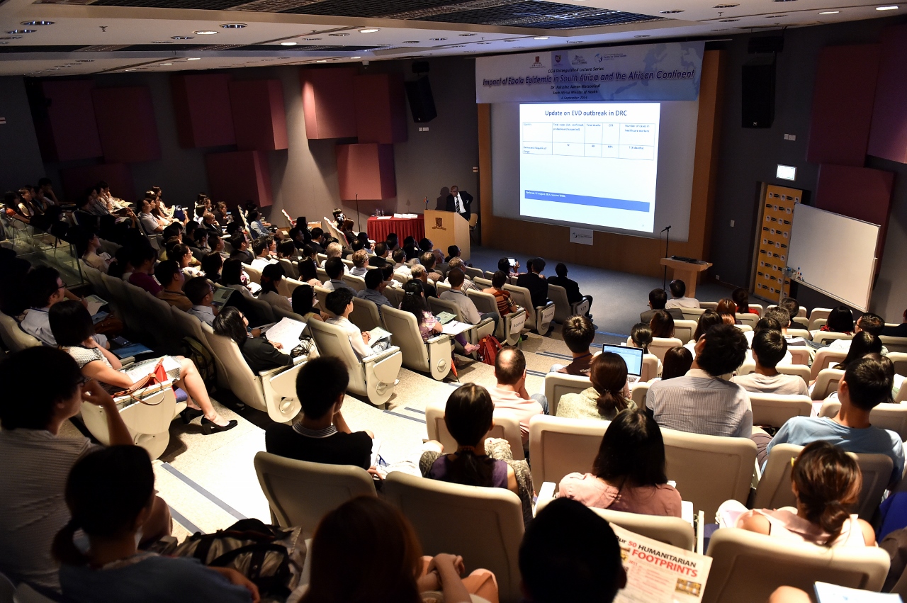
[[(403, 513), (372, 496), (357, 497), (327, 513), (311, 551), (311, 581), (288, 601), (468, 603), (476, 600), (471, 594), (478, 600), (498, 600), (490, 571), (475, 569), (461, 579), (463, 559), (457, 555), (423, 557), (419, 537)], [(302, 590), (302, 598), (295, 598)]]

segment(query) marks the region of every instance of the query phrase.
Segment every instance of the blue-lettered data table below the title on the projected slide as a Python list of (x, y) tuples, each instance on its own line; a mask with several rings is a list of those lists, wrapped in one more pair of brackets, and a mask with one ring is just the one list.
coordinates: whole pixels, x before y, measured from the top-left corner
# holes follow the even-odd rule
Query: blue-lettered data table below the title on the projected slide
[(657, 132), (655, 123), (522, 122), (522, 152), (651, 161)]

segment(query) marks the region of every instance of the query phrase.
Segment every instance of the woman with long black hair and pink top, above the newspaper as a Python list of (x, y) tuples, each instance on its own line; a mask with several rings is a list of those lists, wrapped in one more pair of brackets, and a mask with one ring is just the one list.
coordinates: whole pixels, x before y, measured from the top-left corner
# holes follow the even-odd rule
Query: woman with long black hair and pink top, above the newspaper
[(601, 438), (591, 473), (568, 473), (558, 496), (587, 507), (680, 517), (680, 494), (665, 475), (665, 442), (642, 411), (614, 417)]

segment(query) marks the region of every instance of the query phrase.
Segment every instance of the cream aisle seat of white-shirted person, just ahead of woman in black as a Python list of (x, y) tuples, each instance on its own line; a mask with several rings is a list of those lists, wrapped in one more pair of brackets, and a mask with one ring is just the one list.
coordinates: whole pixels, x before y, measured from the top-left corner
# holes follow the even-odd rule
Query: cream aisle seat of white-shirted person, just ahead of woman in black
[(349, 368), (349, 392), (365, 395), (375, 405), (390, 400), (394, 394), (397, 374), (403, 365), (399, 347), (391, 345), (384, 352), (360, 360), (343, 327), (310, 320), (308, 328), (312, 331), (320, 355), (337, 356), (346, 363)]

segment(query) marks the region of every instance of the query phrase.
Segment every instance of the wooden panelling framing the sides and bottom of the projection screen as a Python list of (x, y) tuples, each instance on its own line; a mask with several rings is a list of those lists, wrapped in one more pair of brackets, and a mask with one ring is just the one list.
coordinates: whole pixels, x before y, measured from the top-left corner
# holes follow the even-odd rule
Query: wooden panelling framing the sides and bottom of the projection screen
[[(725, 61), (725, 54), (722, 51), (707, 51), (702, 61), (689, 236), (686, 242), (671, 242), (671, 253), (678, 256), (709, 258)], [(570, 243), (568, 227), (495, 217), (492, 190), (491, 108), (490, 105), (480, 104), (478, 109), (483, 245), (514, 249), (532, 255), (539, 253), (539, 241), (545, 241), (545, 253), (555, 258), (649, 277), (661, 276), (662, 267), (658, 260), (664, 256), (664, 243), (659, 243), (658, 238), (596, 232), (593, 245), (590, 247)]]

